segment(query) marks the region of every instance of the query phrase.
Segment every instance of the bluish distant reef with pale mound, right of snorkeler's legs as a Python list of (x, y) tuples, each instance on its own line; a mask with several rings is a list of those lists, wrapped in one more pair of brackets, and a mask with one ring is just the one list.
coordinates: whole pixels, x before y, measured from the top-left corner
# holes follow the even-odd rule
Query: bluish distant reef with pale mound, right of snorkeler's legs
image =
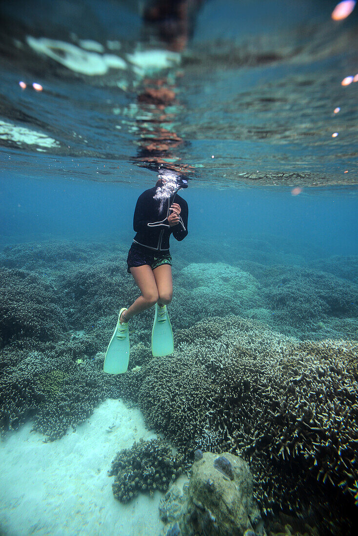
[(241, 251), (227, 245), (221, 262), (207, 262), (210, 245), (200, 247), (201, 260), (195, 251), (195, 262), (181, 259), (171, 304), (174, 329), (231, 312), (299, 339), (357, 338), (358, 286), (351, 272), (343, 266), (335, 271), (328, 260), (308, 267), (299, 255), (277, 254), (269, 241), (241, 242)]

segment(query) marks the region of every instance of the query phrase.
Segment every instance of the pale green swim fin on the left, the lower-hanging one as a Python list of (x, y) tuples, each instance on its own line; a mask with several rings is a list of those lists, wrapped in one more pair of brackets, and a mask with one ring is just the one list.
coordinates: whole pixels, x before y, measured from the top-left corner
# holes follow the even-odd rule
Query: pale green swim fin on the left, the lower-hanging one
[(118, 322), (115, 326), (112, 339), (109, 341), (105, 362), (103, 366), (104, 372), (108, 374), (123, 374), (127, 372), (129, 361), (129, 330), (128, 322), (120, 324), (119, 319), (123, 311), (123, 307), (119, 312)]

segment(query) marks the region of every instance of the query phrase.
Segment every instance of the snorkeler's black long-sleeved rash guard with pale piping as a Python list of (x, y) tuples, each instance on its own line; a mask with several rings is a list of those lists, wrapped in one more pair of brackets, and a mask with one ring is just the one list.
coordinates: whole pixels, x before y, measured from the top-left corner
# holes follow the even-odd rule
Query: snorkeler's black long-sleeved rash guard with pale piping
[[(133, 241), (155, 251), (169, 251), (172, 233), (179, 241), (188, 234), (188, 204), (177, 193), (164, 199), (163, 203), (160, 199), (154, 199), (156, 190), (157, 187), (150, 188), (138, 197), (133, 218), (133, 228), (137, 234)], [(160, 203), (163, 203), (162, 208)], [(179, 223), (170, 227), (167, 218), (173, 203), (180, 205), (181, 213)]]

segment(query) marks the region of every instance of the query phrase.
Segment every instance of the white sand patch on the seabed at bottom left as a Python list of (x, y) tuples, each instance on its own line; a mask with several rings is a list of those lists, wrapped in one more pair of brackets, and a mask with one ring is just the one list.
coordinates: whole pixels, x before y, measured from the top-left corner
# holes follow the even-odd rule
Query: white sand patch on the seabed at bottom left
[(160, 533), (163, 494), (121, 504), (107, 475), (118, 450), (155, 437), (138, 410), (108, 399), (75, 432), (52, 443), (30, 430), (28, 423), (0, 443), (0, 530), (7, 536)]

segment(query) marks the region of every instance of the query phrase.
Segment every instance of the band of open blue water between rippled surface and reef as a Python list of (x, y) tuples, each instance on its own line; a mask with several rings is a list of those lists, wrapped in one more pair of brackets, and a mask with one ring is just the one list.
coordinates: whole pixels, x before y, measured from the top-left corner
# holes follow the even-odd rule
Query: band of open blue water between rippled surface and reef
[[(218, 250), (221, 240), (272, 235), (283, 242), (311, 245), (323, 257), (358, 255), (356, 189), (310, 189), (297, 196), (291, 190), (188, 188), (182, 195), (189, 205), (189, 236), (203, 243), (215, 238)], [(1, 240), (5, 244), (121, 236), (130, 244), (141, 192), (117, 184), (3, 178)], [(176, 247), (173, 239), (172, 245)]]

